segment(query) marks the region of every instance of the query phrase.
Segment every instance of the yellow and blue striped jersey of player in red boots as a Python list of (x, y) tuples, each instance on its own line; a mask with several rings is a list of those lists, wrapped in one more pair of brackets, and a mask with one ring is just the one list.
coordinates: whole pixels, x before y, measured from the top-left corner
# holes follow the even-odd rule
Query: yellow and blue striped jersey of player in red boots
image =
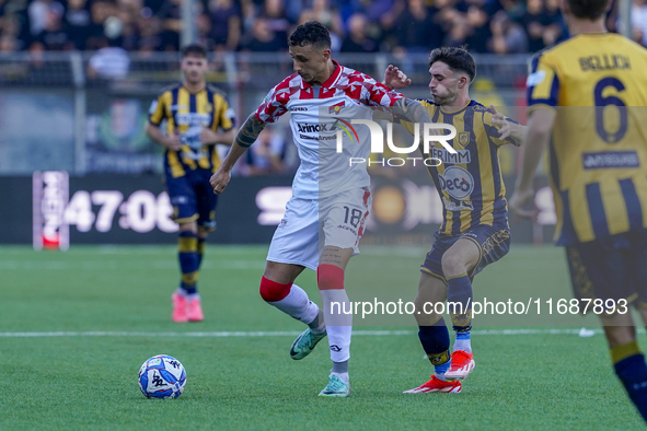
[[(457, 128), (455, 138), (448, 142), (457, 150), (447, 151), (435, 142), (428, 158), (442, 161), (427, 166), (442, 200), (443, 222), (440, 235), (458, 235), (477, 225), (508, 229), (508, 202), (501, 175), (498, 149), (506, 143), (518, 144), (511, 138), (500, 140), (493, 114), (475, 101), (455, 112), (444, 112), (429, 100), (418, 100), (427, 108), (434, 123)], [(402, 121), (413, 133), (413, 125)]]

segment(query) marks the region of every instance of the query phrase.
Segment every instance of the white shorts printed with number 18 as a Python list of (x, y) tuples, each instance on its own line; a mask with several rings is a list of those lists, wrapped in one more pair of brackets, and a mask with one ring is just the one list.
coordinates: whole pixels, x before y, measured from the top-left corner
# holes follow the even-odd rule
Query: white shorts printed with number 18
[(353, 255), (358, 255), (359, 240), (363, 234), (370, 206), (371, 194), (368, 187), (355, 188), (325, 199), (300, 199), (292, 196), (269, 244), (267, 260), (316, 270), (319, 256), (326, 245), (353, 248)]

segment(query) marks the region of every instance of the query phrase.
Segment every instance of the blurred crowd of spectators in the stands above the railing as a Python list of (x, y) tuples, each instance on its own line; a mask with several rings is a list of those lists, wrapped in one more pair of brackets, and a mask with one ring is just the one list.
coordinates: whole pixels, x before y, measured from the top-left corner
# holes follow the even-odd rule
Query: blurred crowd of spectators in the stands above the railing
[[(0, 51), (176, 51), (182, 0), (0, 0)], [(559, 0), (196, 0), (199, 42), (215, 51), (284, 51), (300, 23), (331, 30), (334, 51), (534, 53), (567, 37)], [(647, 45), (647, 0), (633, 0)], [(608, 26), (617, 27), (616, 8)]]

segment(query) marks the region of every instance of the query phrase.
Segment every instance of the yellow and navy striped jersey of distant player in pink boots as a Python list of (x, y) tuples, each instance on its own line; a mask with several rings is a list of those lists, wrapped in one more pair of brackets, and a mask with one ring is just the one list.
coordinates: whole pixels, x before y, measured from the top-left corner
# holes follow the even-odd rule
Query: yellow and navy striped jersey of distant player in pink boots
[(220, 159), (216, 145), (203, 144), (200, 132), (204, 128), (227, 131), (233, 127), (233, 109), (224, 93), (209, 84), (198, 93), (189, 92), (182, 84), (166, 88), (149, 110), (152, 125), (160, 126), (164, 119), (166, 133), (177, 133), (182, 141), (182, 151), (166, 150), (165, 153), (165, 168), (174, 178), (185, 175), (186, 170), (218, 170)]

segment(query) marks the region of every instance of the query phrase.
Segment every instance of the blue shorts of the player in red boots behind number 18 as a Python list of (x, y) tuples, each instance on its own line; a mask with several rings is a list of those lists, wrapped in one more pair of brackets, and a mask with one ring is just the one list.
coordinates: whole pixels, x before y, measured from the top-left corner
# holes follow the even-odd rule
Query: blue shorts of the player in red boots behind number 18
[(482, 224), (459, 235), (439, 235), (436, 233), (436, 242), (427, 253), (425, 263), (420, 266), (420, 271), (439, 278), (447, 283), (442, 272), (442, 255), (461, 238), (472, 241), (480, 252), (478, 261), (467, 272), (470, 279), (473, 279), (483, 268), (497, 261), (510, 251), (510, 229), (508, 226), (499, 228)]

